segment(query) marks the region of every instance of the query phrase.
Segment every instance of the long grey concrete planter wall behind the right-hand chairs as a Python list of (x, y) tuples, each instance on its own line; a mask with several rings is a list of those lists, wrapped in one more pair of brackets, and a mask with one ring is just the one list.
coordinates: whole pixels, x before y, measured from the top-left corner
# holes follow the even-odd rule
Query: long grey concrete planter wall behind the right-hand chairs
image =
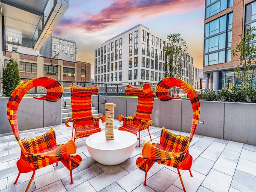
[[(107, 102), (116, 104), (114, 118), (135, 115), (137, 98), (104, 96)], [(100, 99), (102, 102), (103, 99)], [(93, 106), (97, 108), (97, 96)], [(256, 145), (256, 103), (201, 101), (201, 116), (196, 134)], [(105, 105), (99, 104), (99, 112), (105, 113)], [(190, 132), (192, 107), (189, 100), (162, 102), (154, 99), (151, 119), (153, 126), (175, 131)]]

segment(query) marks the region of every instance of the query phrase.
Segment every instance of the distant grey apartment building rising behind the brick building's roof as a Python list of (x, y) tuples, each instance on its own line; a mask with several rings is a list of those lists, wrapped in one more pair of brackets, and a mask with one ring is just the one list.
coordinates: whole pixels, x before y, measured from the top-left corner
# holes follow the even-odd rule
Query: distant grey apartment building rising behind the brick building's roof
[(41, 47), (39, 53), (44, 57), (51, 58), (52, 56), (58, 54), (58, 52), (63, 52), (73, 61), (76, 61), (76, 49), (76, 41), (57, 35), (50, 35), (47, 41), (45, 41), (44, 45)]

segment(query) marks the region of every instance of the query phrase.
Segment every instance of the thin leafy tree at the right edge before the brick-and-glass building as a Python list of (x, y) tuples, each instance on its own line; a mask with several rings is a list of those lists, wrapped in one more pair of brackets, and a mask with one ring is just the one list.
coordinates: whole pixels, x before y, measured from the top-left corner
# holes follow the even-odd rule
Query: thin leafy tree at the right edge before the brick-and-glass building
[[(242, 80), (241, 88), (250, 86), (250, 89), (252, 89), (253, 76), (256, 71), (253, 58), (256, 56), (256, 45), (250, 44), (250, 42), (256, 38), (256, 29), (247, 29), (244, 35), (241, 34), (239, 36), (241, 37), (240, 44), (236, 45), (235, 49), (231, 50), (233, 57), (237, 56), (240, 62), (239, 67), (236, 67), (234, 70), (237, 76)], [(252, 76), (250, 76), (250, 71), (252, 71)]]

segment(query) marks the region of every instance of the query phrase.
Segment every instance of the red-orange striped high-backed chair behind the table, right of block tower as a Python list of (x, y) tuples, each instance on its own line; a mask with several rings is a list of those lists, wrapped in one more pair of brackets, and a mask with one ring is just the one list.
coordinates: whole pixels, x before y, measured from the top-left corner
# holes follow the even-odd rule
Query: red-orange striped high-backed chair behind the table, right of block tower
[[(143, 87), (135, 87), (131, 84), (125, 87), (126, 95), (137, 95), (138, 104), (135, 116), (124, 117), (122, 115), (118, 116), (119, 121), (123, 121), (123, 125), (118, 128), (121, 131), (128, 131), (132, 134), (137, 135), (139, 132), (139, 147), (140, 147), (140, 131), (148, 129), (152, 125), (151, 113), (153, 109), (153, 90), (150, 84), (144, 84)], [(151, 135), (148, 129), (148, 134), (151, 139)]]

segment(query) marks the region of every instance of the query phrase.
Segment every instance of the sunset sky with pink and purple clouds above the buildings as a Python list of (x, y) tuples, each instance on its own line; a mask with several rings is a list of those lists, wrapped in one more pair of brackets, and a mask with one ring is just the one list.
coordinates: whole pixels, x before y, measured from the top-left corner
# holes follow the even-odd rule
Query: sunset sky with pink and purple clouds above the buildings
[[(76, 61), (91, 64), (94, 48), (141, 23), (157, 35), (180, 33), (194, 65), (203, 66), (205, 0), (69, 0), (53, 34), (76, 41)], [(91, 70), (92, 78), (94, 70)]]

